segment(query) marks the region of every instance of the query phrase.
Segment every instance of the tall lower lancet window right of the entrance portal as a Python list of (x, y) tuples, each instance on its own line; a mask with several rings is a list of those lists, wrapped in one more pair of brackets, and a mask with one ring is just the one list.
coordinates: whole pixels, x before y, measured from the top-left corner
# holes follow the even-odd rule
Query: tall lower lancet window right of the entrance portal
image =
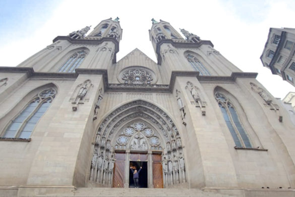
[(234, 140), (235, 146), (251, 148), (252, 145), (250, 139), (241, 124), (237, 111), (228, 97), (219, 92), (216, 92), (215, 98), (218, 102), (225, 123)]

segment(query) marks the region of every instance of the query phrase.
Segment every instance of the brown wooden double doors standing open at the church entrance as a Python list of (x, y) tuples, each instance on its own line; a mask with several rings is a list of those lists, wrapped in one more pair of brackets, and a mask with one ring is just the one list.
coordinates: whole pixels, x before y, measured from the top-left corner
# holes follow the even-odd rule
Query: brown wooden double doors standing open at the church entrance
[(113, 187), (129, 187), (130, 183), (130, 167), (135, 163), (146, 163), (146, 173), (142, 173), (147, 178), (147, 187), (163, 188), (163, 170), (161, 163), (161, 154), (159, 153), (115, 153)]

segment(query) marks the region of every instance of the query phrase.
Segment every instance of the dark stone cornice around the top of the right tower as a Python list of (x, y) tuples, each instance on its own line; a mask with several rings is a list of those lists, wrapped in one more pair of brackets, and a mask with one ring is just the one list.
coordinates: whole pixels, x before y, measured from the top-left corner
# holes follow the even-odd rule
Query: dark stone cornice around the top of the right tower
[(170, 43), (172, 46), (174, 46), (176, 48), (198, 48), (202, 44), (209, 44), (210, 46), (214, 47), (214, 45), (212, 44), (212, 42), (210, 40), (201, 40), (198, 43), (195, 43), (195, 42), (173, 42), (172, 39), (161, 39), (160, 41), (157, 42), (157, 45), (156, 45), (156, 54), (157, 54), (158, 65), (161, 65), (161, 63), (162, 63), (162, 57), (160, 54), (160, 46), (163, 43)]

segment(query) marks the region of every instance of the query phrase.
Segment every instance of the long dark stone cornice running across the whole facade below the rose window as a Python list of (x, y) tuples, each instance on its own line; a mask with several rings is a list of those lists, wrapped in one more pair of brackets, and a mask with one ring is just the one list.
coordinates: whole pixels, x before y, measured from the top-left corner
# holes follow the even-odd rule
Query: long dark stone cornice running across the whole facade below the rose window
[(237, 78), (256, 78), (257, 73), (233, 72), (230, 76), (200, 76), (197, 71), (172, 71), (169, 84), (119, 84), (108, 83), (108, 74), (106, 69), (76, 69), (76, 73), (50, 73), (50, 72), (35, 72), (33, 68), (27, 67), (0, 67), (0, 72), (24, 72), (29, 78), (77, 78), (80, 74), (95, 74), (102, 75), (104, 89), (107, 91), (140, 91), (140, 92), (171, 92), (174, 87), (176, 77), (196, 77), (200, 82), (228, 82), (235, 81)]

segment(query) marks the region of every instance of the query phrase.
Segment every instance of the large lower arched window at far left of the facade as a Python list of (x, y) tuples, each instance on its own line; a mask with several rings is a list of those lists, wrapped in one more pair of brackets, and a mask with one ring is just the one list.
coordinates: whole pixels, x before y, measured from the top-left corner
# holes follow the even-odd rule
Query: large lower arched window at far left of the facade
[(5, 129), (3, 137), (28, 139), (40, 117), (46, 112), (55, 97), (54, 89), (38, 93), (25, 109)]

